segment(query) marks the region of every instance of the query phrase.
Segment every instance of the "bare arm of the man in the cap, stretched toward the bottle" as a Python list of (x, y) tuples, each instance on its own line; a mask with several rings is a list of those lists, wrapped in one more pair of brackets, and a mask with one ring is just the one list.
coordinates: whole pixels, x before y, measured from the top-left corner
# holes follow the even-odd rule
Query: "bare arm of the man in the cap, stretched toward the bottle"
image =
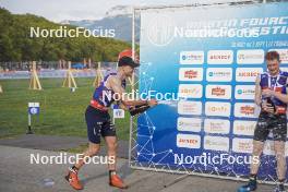
[(108, 81), (108, 85), (117, 95), (120, 96), (120, 100), (124, 106), (140, 106), (140, 105), (149, 105), (155, 106), (157, 105), (157, 101), (155, 99), (151, 99), (151, 100), (131, 100), (128, 98), (128, 95), (125, 94), (125, 89), (122, 87), (121, 85), (121, 81), (116, 77), (116, 76), (111, 76), (109, 77)]

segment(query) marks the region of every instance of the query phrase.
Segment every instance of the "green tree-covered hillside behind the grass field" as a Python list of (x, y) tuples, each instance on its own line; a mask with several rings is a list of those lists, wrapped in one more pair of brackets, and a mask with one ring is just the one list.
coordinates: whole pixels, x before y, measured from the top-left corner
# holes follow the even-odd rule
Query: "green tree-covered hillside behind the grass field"
[[(31, 27), (58, 29), (61, 25), (33, 14), (16, 15), (0, 8), (0, 61), (117, 61), (128, 43), (97, 37), (31, 37)], [(75, 26), (67, 25), (67, 28)]]

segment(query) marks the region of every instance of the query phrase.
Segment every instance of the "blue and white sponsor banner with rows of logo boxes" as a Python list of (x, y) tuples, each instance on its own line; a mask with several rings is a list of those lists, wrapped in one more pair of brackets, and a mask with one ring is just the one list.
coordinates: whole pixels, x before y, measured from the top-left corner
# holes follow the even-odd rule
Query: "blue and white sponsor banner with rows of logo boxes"
[[(288, 3), (146, 10), (141, 32), (140, 93), (166, 101), (139, 117), (136, 161), (248, 175), (256, 160), (251, 153), (260, 108), (253, 99), (265, 53), (277, 50), (288, 69)], [(276, 177), (273, 153), (268, 139), (264, 180)]]

